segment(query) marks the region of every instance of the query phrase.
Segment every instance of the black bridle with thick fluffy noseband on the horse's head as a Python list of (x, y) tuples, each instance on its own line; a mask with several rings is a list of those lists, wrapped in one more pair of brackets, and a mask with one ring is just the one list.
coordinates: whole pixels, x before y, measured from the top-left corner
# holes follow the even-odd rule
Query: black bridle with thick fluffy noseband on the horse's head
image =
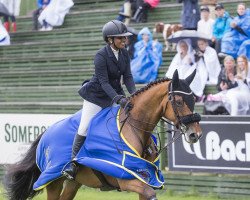
[[(176, 93), (181, 94), (181, 96), (193, 95), (193, 93), (192, 92), (186, 93), (184, 91), (174, 91), (173, 87), (172, 87), (172, 82), (170, 83), (168, 99), (171, 102), (175, 117), (177, 119), (177, 124), (175, 126), (177, 129), (180, 129), (181, 133), (185, 133), (187, 131), (187, 125), (194, 123), (194, 122), (199, 122), (201, 120), (201, 116), (198, 113), (193, 113), (193, 114), (186, 115), (186, 116), (180, 116), (179, 112), (177, 110), (177, 104), (176, 104), (176, 100), (175, 100)], [(167, 106), (165, 107), (164, 113), (165, 113), (166, 109), (167, 109)]]

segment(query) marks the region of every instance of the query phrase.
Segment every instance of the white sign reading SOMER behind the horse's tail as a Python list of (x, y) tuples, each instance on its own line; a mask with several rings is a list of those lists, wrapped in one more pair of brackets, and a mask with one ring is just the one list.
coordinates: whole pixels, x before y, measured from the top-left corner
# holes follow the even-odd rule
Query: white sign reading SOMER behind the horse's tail
[(22, 158), (30, 144), (53, 123), (68, 115), (0, 114), (0, 164)]

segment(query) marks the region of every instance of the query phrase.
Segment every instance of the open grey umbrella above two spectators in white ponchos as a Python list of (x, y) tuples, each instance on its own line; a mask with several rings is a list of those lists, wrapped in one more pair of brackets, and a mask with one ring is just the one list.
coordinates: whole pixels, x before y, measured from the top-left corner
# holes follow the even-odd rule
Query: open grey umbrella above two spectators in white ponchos
[(204, 33), (197, 32), (195, 30), (183, 30), (177, 31), (168, 37), (168, 41), (171, 43), (178, 43), (183, 39), (191, 39), (192, 42), (197, 41), (198, 39), (205, 39), (211, 41), (211, 38)]

